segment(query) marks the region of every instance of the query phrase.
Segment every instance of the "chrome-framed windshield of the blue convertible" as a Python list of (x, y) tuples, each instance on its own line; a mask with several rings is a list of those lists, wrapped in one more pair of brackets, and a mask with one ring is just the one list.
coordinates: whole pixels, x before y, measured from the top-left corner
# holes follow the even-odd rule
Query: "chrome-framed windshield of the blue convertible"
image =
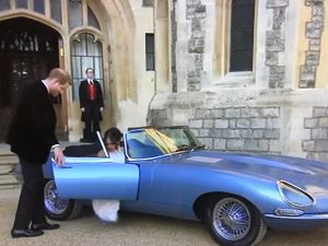
[(150, 159), (203, 148), (187, 127), (142, 128), (125, 134), (127, 155)]

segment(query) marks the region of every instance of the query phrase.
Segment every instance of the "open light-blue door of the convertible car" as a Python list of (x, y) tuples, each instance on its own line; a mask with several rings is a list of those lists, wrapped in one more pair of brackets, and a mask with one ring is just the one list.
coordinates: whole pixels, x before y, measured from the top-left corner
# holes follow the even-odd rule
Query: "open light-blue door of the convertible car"
[(60, 197), (74, 199), (134, 200), (139, 189), (139, 167), (106, 157), (67, 157), (60, 167), (52, 163)]

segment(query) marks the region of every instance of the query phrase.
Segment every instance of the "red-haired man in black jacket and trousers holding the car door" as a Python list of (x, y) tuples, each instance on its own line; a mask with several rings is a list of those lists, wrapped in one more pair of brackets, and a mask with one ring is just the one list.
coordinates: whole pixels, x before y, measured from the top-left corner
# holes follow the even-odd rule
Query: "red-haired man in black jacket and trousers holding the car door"
[(65, 164), (55, 134), (56, 114), (49, 95), (61, 94), (70, 83), (69, 73), (56, 68), (47, 79), (26, 83), (19, 92), (7, 139), (11, 151), (19, 156), (24, 178), (12, 237), (39, 236), (44, 234), (43, 230), (59, 227), (46, 221), (43, 164), (51, 149), (57, 164)]

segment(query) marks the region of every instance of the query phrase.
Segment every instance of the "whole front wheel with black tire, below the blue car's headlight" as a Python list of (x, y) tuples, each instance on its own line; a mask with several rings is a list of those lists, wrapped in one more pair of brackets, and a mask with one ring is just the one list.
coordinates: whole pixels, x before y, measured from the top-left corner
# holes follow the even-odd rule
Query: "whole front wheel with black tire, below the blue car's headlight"
[(254, 246), (267, 232), (260, 212), (237, 197), (210, 198), (204, 219), (211, 236), (222, 246)]

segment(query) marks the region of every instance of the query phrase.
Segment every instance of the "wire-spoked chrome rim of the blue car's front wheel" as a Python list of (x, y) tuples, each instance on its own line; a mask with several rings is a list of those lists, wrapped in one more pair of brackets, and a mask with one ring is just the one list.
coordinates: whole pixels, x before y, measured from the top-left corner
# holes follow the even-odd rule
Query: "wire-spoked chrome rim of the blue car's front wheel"
[(225, 239), (239, 241), (250, 230), (250, 212), (238, 199), (220, 200), (213, 209), (212, 216), (215, 231)]

